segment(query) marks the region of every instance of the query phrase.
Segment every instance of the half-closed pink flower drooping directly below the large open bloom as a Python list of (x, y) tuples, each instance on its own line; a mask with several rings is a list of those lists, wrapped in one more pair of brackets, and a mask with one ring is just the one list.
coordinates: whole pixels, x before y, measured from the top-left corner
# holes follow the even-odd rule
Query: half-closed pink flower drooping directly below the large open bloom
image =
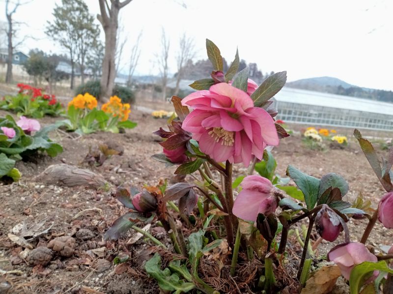
[(255, 221), (258, 214), (272, 214), (277, 208), (277, 197), (272, 183), (260, 175), (243, 179), (243, 190), (235, 199), (232, 213), (245, 221)]

